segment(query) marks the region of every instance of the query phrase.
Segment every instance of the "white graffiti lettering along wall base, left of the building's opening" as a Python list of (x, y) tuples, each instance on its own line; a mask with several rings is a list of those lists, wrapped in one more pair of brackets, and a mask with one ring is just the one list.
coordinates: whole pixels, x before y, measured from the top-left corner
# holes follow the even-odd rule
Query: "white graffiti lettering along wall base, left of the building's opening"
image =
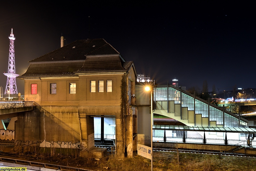
[(53, 148), (80, 148), (80, 142), (78, 143), (71, 143), (70, 142), (64, 142), (64, 141), (58, 141), (58, 142), (48, 142), (48, 141), (43, 141), (40, 143), (40, 147), (53, 147)]

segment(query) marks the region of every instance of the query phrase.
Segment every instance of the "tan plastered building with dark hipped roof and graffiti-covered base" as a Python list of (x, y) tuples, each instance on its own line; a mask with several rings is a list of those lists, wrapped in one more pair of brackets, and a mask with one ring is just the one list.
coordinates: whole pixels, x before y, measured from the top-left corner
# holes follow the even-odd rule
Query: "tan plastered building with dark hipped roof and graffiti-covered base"
[(25, 82), (25, 101), (38, 106), (18, 116), (15, 141), (21, 143), (15, 143), (14, 151), (27, 141), (38, 141), (40, 147), (64, 142), (88, 155), (94, 148), (93, 118), (114, 117), (116, 155), (131, 157), (137, 148), (137, 109), (131, 97), (136, 76), (133, 62), (104, 39), (77, 40), (29, 61), (18, 78)]

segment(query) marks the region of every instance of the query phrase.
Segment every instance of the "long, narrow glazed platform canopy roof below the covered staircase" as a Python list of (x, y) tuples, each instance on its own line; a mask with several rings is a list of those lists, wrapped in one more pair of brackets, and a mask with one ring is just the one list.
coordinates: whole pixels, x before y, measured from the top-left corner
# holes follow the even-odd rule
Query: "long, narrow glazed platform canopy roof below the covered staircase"
[(180, 125), (153, 125), (154, 130), (172, 131), (203, 131), (203, 132), (231, 132), (231, 133), (256, 133), (256, 128), (242, 127), (213, 127), (213, 126), (180, 126)]

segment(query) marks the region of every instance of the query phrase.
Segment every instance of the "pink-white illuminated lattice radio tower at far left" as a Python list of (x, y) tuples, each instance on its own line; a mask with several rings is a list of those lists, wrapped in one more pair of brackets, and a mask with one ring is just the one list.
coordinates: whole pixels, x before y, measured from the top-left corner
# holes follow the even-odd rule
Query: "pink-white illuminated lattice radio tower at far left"
[(8, 73), (4, 73), (7, 76), (6, 88), (4, 94), (18, 94), (16, 86), (16, 77), (19, 74), (15, 74), (15, 58), (14, 58), (14, 34), (13, 29), (9, 36), (10, 39), (10, 49), (9, 49), (9, 63), (8, 63)]

